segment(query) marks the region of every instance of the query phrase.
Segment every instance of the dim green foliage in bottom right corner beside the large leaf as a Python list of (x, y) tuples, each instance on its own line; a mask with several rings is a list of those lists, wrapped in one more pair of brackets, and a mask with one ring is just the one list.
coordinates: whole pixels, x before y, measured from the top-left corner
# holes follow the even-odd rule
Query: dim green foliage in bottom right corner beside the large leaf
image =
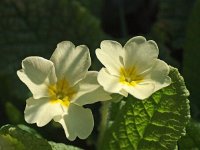
[(186, 136), (183, 136), (179, 142), (179, 150), (199, 150), (200, 149), (200, 123), (194, 120), (190, 121), (186, 128)]

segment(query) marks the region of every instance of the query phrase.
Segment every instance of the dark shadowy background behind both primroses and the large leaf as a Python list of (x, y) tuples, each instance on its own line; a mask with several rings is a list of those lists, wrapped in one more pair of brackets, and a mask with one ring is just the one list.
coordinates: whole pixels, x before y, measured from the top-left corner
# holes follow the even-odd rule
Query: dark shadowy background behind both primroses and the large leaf
[(44, 138), (93, 149), (98, 136), (99, 106), (89, 106), (95, 129), (87, 140), (69, 142), (55, 123), (38, 128), (25, 123), (25, 100), (31, 93), (18, 79), (21, 61), (31, 55), (47, 59), (56, 44), (85, 44), (91, 70), (101, 64), (95, 49), (105, 39), (124, 44), (137, 35), (154, 40), (160, 59), (177, 67), (191, 96), (192, 118), (200, 120), (200, 1), (199, 0), (1, 0), (0, 1), (0, 126), (25, 124)]

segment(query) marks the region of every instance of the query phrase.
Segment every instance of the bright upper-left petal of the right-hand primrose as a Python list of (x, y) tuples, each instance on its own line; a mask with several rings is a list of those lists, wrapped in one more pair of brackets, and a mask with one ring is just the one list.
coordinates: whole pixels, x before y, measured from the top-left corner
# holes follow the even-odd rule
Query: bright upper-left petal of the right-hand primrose
[(112, 75), (119, 75), (119, 68), (123, 65), (123, 48), (116, 41), (105, 40), (101, 42), (101, 49), (96, 50), (97, 58)]

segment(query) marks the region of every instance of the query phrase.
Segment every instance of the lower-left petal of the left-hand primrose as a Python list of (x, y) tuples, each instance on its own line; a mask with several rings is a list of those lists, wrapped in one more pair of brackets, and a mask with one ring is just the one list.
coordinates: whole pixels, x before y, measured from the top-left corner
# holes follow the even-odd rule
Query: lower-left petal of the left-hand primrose
[(24, 111), (28, 123), (36, 123), (38, 127), (49, 123), (54, 117), (63, 114), (63, 107), (59, 103), (51, 103), (48, 98), (27, 100)]

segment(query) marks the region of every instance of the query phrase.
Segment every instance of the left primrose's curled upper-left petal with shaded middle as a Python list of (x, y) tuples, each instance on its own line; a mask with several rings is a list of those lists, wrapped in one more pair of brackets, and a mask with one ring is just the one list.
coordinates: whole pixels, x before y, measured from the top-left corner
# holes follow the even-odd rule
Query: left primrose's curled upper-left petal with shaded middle
[(49, 84), (56, 83), (55, 68), (53, 63), (42, 57), (27, 57), (22, 61), (22, 69), (17, 75), (33, 94), (35, 99), (48, 97)]

